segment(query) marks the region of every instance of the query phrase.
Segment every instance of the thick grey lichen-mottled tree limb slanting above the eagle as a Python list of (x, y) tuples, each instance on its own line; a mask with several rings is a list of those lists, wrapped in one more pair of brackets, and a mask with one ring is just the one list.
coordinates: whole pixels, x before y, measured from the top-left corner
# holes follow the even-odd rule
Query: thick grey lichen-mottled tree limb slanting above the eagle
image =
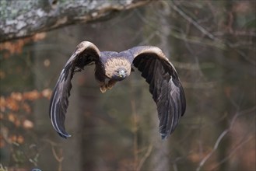
[(35, 33), (109, 19), (117, 12), (145, 5), (151, 0), (20, 0), (0, 1), (0, 42)]

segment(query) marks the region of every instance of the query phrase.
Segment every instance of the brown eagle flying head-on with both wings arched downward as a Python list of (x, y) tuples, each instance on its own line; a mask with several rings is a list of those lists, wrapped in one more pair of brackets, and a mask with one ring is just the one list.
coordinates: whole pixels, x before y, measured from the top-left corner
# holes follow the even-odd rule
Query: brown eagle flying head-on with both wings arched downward
[(186, 99), (174, 65), (160, 48), (139, 46), (118, 53), (100, 51), (91, 42), (82, 41), (62, 69), (51, 95), (51, 124), (62, 138), (71, 136), (65, 131), (64, 123), (72, 77), (75, 72), (92, 64), (95, 65), (95, 79), (101, 92), (126, 79), (134, 71), (132, 66), (138, 68), (149, 83), (149, 92), (156, 103), (161, 137), (167, 138), (174, 131), (186, 110)]

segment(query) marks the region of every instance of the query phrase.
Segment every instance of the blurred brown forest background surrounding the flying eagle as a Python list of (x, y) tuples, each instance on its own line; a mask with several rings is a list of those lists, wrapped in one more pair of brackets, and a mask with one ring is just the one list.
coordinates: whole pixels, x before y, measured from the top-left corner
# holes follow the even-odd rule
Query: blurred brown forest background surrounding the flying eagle
[[(153, 1), (110, 19), (64, 26), (0, 47), (0, 170), (255, 170), (255, 1)], [(2, 21), (1, 21), (2, 22)], [(160, 47), (187, 110), (162, 141), (138, 71), (102, 94), (94, 67), (75, 74), (58, 136), (51, 90), (75, 47)]]

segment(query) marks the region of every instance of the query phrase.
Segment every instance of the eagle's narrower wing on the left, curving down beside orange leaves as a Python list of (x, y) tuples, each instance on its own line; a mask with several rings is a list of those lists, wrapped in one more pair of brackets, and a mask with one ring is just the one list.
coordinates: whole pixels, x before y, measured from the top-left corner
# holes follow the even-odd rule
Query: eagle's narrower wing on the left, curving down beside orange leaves
[(71, 135), (65, 131), (65, 113), (68, 108), (68, 96), (72, 88), (71, 79), (86, 65), (100, 60), (100, 51), (88, 41), (81, 42), (61, 71), (58, 82), (51, 95), (50, 118), (54, 129), (62, 138)]

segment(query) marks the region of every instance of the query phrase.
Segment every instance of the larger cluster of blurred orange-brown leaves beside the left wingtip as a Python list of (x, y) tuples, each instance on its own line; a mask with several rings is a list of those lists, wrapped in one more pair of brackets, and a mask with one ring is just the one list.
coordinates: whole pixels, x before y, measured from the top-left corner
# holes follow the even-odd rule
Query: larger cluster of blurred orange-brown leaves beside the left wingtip
[[(31, 103), (37, 99), (50, 99), (51, 90), (44, 89), (41, 92), (33, 90), (30, 92), (12, 92), (10, 96), (0, 97), (0, 121), (2, 130), (0, 136), (0, 148), (4, 148), (6, 142), (9, 144), (23, 144), (26, 138), (21, 133), (31, 130), (34, 126), (31, 117)], [(16, 127), (13, 129), (13, 127)], [(15, 130), (15, 131), (13, 131)]]

